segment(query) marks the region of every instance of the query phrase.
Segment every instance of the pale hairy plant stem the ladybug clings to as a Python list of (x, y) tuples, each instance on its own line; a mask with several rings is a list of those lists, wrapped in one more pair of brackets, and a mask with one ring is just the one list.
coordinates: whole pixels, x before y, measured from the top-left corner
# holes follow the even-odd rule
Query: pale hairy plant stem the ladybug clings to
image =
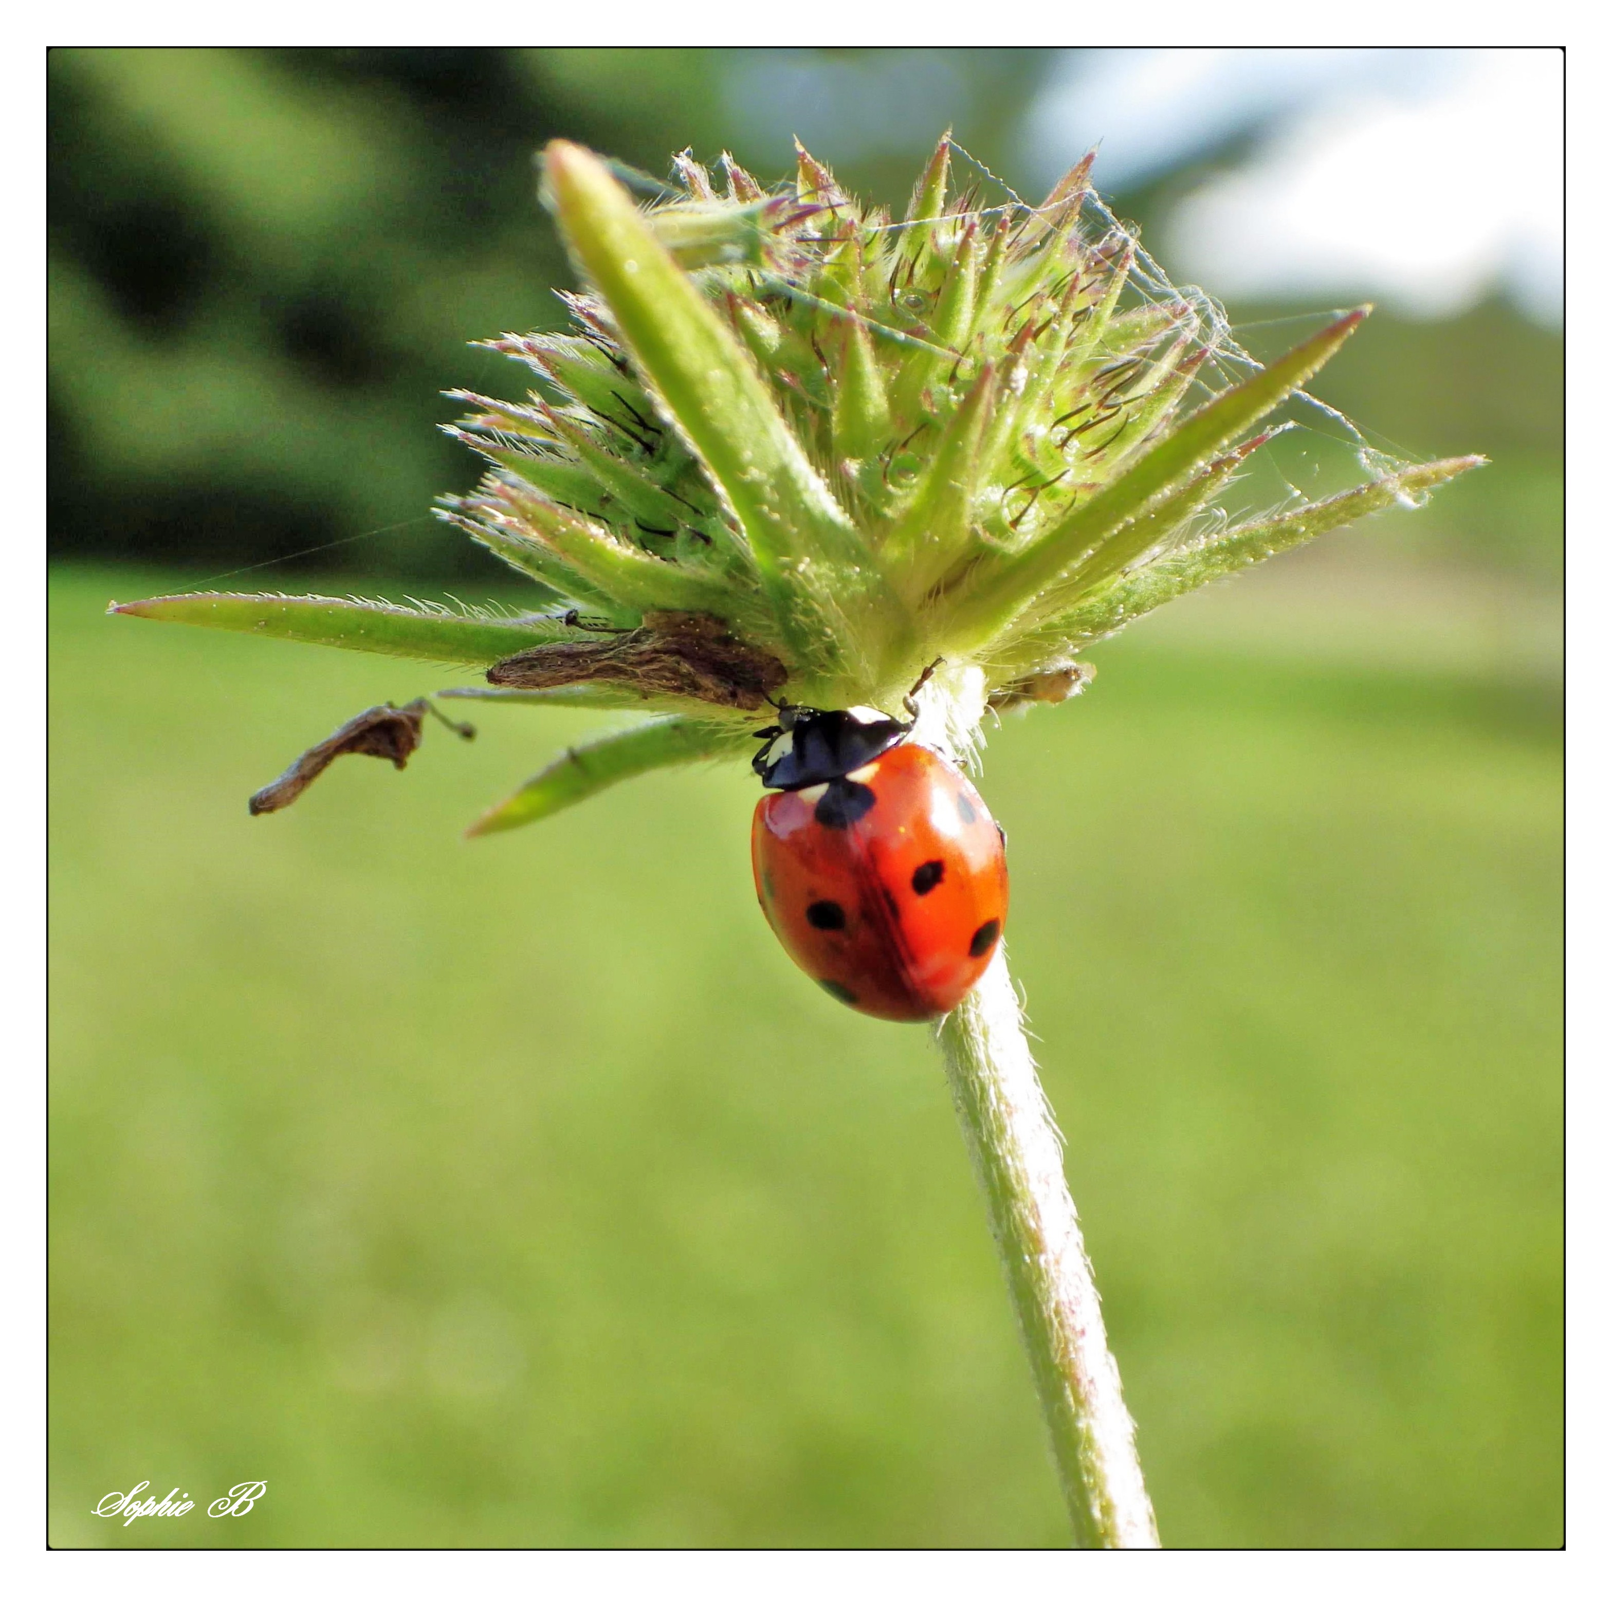
[[(951, 753), (977, 740), (977, 672), (937, 674), (919, 735)], [(1024, 1035), (999, 948), (978, 986), (937, 1033), (951, 1099), (1030, 1355), (1077, 1547), (1157, 1547), (1136, 1457), (1136, 1426), (1107, 1349), (1064, 1147)]]

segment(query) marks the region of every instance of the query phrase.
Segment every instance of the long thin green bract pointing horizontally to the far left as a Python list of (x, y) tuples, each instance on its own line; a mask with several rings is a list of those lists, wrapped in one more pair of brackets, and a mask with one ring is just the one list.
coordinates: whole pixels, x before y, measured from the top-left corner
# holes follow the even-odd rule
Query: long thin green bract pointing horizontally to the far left
[(189, 627), (248, 632), (292, 643), (397, 654), (403, 659), (492, 666), (538, 643), (574, 637), (558, 617), (455, 616), (387, 604), (384, 599), (327, 599), (314, 593), (174, 593), (131, 604), (108, 604), (108, 616), (177, 620)]

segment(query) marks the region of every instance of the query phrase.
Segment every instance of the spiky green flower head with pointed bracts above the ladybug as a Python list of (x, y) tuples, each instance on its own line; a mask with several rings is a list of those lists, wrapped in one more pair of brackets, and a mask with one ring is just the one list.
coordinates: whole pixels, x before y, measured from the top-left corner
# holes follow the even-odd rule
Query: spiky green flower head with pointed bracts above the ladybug
[(542, 164), (588, 292), (563, 297), (572, 330), (492, 342), (537, 387), (458, 395), (474, 409), (450, 430), (488, 471), (440, 506), (535, 583), (532, 608), (123, 608), (488, 667), (459, 693), (653, 712), (476, 830), (738, 757), (785, 699), (895, 711), (935, 661), (941, 736), (966, 741), (987, 703), (1067, 698), (1082, 649), (1164, 601), (1478, 464), (1362, 453), (1367, 480), (1332, 498), (1217, 512), (1365, 311), (1246, 359), (1101, 206), (1090, 156), (1040, 206), (982, 205), (953, 193), (943, 139), (901, 221), (804, 150), (771, 190), (682, 155), (646, 206), (577, 145)]

